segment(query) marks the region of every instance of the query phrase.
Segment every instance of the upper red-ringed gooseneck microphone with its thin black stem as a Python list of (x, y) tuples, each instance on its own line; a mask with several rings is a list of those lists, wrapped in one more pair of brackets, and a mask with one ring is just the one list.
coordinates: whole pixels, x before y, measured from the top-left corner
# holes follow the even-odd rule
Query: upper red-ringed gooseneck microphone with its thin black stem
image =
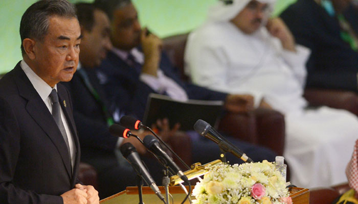
[(137, 120), (136, 118), (130, 117), (130, 116), (123, 116), (120, 119), (120, 123), (124, 125), (127, 128), (130, 129), (146, 129), (150, 131), (164, 146), (169, 149), (169, 151), (187, 168), (187, 170), (190, 170), (191, 168), (180, 158), (158, 135), (154, 133), (148, 126), (145, 126), (140, 120)]

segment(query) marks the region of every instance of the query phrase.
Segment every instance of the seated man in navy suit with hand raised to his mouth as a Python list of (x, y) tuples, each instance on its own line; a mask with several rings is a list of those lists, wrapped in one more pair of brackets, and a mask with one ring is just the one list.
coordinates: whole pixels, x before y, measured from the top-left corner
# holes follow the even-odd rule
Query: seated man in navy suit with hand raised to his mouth
[[(95, 5), (105, 10), (111, 19), (114, 45), (100, 66), (99, 77), (110, 101), (120, 110), (127, 110), (141, 119), (150, 93), (167, 94), (178, 100), (226, 100), (226, 107), (236, 110), (252, 107), (250, 97), (228, 95), (181, 81), (169, 59), (161, 52), (161, 40), (141, 29), (137, 11), (130, 1), (98, 0)], [(204, 164), (218, 159), (220, 151), (214, 142), (198, 134), (193, 134), (191, 139), (193, 162)], [(231, 141), (254, 161), (274, 161), (275, 154), (271, 150)], [(228, 154), (228, 160), (241, 162), (231, 154)]]

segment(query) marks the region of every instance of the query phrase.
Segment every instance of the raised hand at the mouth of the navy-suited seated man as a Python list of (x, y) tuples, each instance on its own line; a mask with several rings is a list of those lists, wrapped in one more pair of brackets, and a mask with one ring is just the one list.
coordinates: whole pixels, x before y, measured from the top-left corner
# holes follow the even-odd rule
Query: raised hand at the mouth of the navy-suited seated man
[(147, 29), (141, 31), (141, 43), (144, 53), (144, 65), (142, 73), (150, 74), (156, 77), (156, 72), (161, 59), (161, 50), (163, 42), (153, 34), (147, 35)]

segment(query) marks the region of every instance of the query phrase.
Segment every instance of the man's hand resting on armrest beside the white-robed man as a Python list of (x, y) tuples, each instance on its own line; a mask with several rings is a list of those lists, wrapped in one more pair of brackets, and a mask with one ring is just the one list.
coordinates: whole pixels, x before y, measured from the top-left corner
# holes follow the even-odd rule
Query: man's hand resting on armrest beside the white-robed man
[(248, 94), (229, 94), (225, 100), (225, 108), (235, 113), (248, 112), (254, 109), (254, 96)]

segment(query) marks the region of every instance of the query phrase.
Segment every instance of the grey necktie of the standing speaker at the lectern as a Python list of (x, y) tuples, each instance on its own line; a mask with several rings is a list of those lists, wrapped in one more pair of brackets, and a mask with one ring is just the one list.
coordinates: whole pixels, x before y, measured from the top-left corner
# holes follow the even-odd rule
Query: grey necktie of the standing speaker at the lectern
[(64, 129), (64, 125), (63, 125), (63, 122), (61, 119), (61, 107), (60, 107), (60, 103), (58, 101), (58, 95), (57, 95), (56, 89), (52, 89), (52, 91), (50, 93), (50, 98), (52, 100), (52, 116), (54, 117), (55, 122), (56, 122), (58, 128), (60, 129), (60, 132), (62, 134), (64, 142), (66, 143), (67, 150), (69, 151), (70, 161), (72, 163), (69, 139), (67, 138), (66, 130)]

